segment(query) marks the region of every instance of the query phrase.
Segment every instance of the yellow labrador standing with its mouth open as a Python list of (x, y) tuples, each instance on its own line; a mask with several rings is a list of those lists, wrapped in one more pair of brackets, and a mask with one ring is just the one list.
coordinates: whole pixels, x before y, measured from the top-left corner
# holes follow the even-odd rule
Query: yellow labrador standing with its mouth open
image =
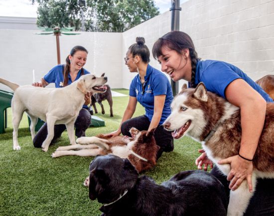
[(81, 76), (77, 81), (63, 88), (38, 88), (31, 85), (19, 86), (15, 83), (0, 78), (0, 83), (8, 86), (14, 91), (11, 100), (12, 125), (13, 125), (13, 150), (20, 150), (18, 144), (18, 126), (25, 111), (31, 119), (30, 133), (33, 140), (35, 136), (35, 125), (37, 119), (47, 122), (48, 135), (42, 143), (43, 151), (54, 136), (54, 125), (65, 124), (70, 144), (74, 145), (74, 123), (81, 110), (87, 92), (105, 92), (104, 84), (107, 77), (96, 77), (92, 74)]

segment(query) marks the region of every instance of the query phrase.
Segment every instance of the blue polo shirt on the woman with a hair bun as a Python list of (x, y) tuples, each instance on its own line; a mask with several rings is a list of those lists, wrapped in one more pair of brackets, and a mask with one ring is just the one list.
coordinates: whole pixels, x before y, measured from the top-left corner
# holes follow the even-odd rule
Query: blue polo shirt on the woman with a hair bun
[(148, 64), (143, 86), (139, 75), (136, 75), (130, 86), (130, 96), (136, 97), (137, 101), (144, 107), (145, 115), (150, 122), (154, 113), (154, 96), (157, 95), (166, 95), (159, 122), (159, 124), (162, 124), (171, 113), (172, 90), (167, 77)]

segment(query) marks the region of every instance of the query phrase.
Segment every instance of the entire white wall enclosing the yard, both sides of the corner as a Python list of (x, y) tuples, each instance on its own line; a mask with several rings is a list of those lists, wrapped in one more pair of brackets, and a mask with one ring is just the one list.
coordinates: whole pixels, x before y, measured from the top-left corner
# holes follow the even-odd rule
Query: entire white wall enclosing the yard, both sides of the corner
[[(192, 37), (199, 57), (235, 64), (254, 80), (274, 74), (274, 0), (188, 0), (181, 8), (180, 30)], [(142, 36), (151, 50), (170, 24), (167, 11), (124, 33), (63, 35), (61, 61), (74, 45), (83, 45), (89, 50), (86, 69), (97, 75), (106, 72), (112, 88), (129, 88), (136, 73), (129, 72), (123, 59), (128, 47)], [(38, 79), (56, 65), (55, 37), (33, 32), (0, 27), (0, 77), (29, 84), (32, 69)], [(160, 69), (152, 54), (150, 60)]]

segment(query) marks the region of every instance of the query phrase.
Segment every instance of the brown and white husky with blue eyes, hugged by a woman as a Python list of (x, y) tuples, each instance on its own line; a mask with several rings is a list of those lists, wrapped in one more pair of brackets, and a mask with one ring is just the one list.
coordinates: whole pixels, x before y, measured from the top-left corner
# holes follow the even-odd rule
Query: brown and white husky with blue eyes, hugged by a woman
[[(230, 165), (219, 165), (222, 159), (239, 154), (241, 143), (240, 110), (225, 99), (207, 92), (203, 83), (195, 89), (182, 90), (173, 100), (172, 112), (165, 129), (174, 131), (175, 139), (188, 135), (202, 143), (210, 160), (228, 175)], [(264, 129), (253, 160), (253, 193), (257, 178), (274, 178), (274, 103), (267, 104)], [(228, 216), (242, 216), (253, 193), (247, 181), (230, 192)]]

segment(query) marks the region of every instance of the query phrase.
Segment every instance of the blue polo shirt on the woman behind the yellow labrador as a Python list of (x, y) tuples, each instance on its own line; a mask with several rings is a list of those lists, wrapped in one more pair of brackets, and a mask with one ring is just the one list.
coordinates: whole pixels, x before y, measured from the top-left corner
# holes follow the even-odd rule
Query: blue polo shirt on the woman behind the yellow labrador
[[(84, 69), (84, 75), (89, 74), (90, 72)], [(81, 76), (81, 70), (78, 71), (78, 74), (75, 80), (79, 79)], [(55, 88), (62, 88), (64, 82), (64, 65), (59, 64), (53, 67), (45, 76), (44, 80), (48, 83), (55, 83)], [(71, 76), (68, 74), (68, 85), (72, 83)], [(83, 108), (88, 109), (87, 105), (83, 105)]]

